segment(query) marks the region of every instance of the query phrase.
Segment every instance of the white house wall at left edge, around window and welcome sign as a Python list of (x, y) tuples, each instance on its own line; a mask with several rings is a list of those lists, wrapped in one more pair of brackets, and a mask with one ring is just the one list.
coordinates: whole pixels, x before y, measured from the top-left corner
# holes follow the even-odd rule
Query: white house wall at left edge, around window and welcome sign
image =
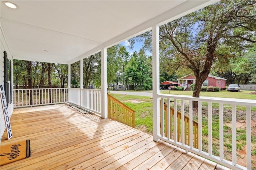
[[(4, 39), (4, 35), (3, 35), (3, 28), (2, 28), (2, 24), (0, 22), (0, 84), (4, 84), (4, 51), (7, 52), (8, 54), (8, 59), (10, 59), (10, 61), (12, 62), (11, 66), (11, 70), (13, 70), (13, 59), (12, 59), (12, 55), (9, 51), (9, 48), (7, 46), (7, 43)], [(11, 76), (13, 77), (13, 73), (11, 73)], [(13, 78), (12, 78), (12, 84), (13, 84)], [(11, 90), (13, 90), (13, 87), (11, 87)], [(12, 96), (11, 96), (12, 97)], [(2, 139), (2, 136), (5, 132), (5, 121), (4, 121), (4, 114), (3, 114), (3, 110), (2, 110), (2, 104), (0, 104), (0, 142)], [(13, 104), (9, 104), (8, 105), (8, 113), (12, 114), (13, 111)], [(10, 123), (12, 124), (12, 121), (10, 121)]]

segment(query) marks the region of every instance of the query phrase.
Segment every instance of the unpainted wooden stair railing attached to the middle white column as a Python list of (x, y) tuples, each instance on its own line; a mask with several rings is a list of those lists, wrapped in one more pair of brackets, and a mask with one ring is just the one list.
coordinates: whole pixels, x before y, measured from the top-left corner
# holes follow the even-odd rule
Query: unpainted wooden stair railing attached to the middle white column
[(109, 94), (108, 118), (135, 127), (135, 111)]

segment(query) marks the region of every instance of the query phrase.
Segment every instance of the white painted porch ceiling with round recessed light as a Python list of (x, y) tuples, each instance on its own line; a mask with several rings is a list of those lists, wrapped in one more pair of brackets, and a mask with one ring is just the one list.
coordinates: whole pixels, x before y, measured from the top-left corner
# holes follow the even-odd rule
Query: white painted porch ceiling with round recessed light
[(14, 59), (73, 63), (216, 0), (16, 0), (1, 3), (1, 28)]

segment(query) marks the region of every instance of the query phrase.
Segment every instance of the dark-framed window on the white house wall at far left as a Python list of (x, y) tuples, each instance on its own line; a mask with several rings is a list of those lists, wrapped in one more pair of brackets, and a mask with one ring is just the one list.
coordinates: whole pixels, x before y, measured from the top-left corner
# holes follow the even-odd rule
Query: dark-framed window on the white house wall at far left
[(11, 91), (11, 82), (12, 82), (12, 77), (11, 77), (11, 66), (12, 63), (7, 57), (6, 51), (4, 51), (4, 91), (6, 95), (6, 101), (7, 103), (12, 103), (12, 91)]

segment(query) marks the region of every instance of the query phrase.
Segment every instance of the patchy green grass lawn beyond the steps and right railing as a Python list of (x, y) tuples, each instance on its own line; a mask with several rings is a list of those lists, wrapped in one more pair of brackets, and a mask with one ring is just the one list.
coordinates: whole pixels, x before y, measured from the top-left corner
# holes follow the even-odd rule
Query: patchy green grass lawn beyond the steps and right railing
[[(161, 90), (163, 94), (169, 94), (169, 90)], [(227, 98), (240, 98), (240, 99), (256, 99), (255, 94), (250, 94), (254, 91), (240, 91), (238, 92), (201, 92), (200, 96), (207, 97), (227, 97)], [(176, 95), (192, 95), (192, 91), (171, 91), (171, 94)], [(122, 101), (128, 107), (132, 108), (135, 113), (135, 128), (152, 134), (153, 120), (152, 120), (152, 98), (134, 95), (120, 95), (111, 94), (118, 100)], [(178, 100), (179, 103), (179, 100)], [(178, 107), (179, 108), (179, 107)], [(212, 103), (212, 152), (214, 155), (219, 156), (219, 106), (217, 103)], [(246, 112), (245, 107), (237, 106), (237, 155), (238, 163), (246, 163)], [(188, 106), (185, 107), (185, 112), (188, 115)], [(230, 105), (224, 105), (224, 156), (226, 159), (231, 160), (232, 156), (232, 112)], [(194, 112), (193, 119), (198, 121), (197, 113)], [(202, 103), (202, 129), (203, 134), (203, 148), (208, 152), (208, 108), (207, 103)], [(252, 169), (256, 170), (256, 107), (252, 107)], [(245, 166), (245, 164), (244, 164)]]

